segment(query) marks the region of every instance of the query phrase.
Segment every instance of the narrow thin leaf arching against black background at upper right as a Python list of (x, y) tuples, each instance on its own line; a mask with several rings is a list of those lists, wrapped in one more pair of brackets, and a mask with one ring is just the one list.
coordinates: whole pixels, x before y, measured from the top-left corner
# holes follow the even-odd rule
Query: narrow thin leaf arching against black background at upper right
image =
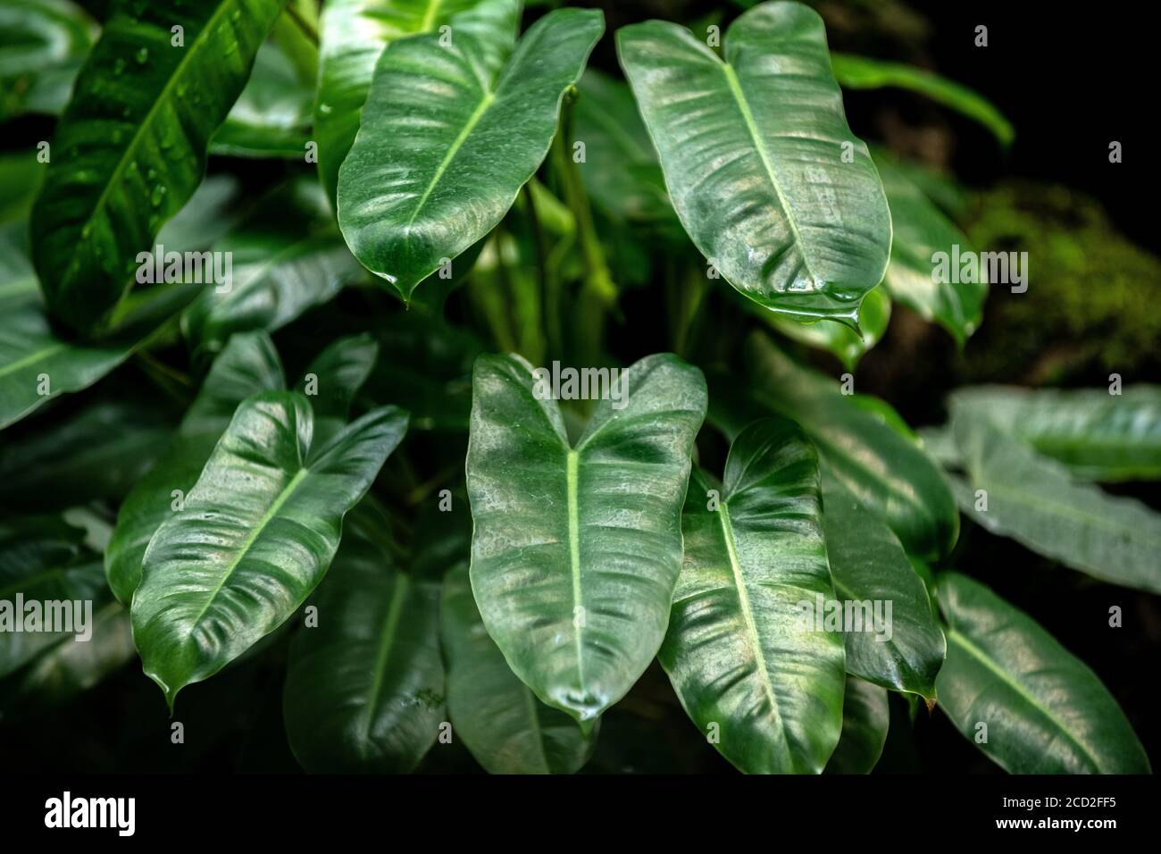
[(884, 62), (852, 53), (831, 53), (830, 63), (838, 82), (850, 89), (877, 89), (884, 86), (918, 92), (973, 119), (1003, 145), (1011, 145), (1016, 131), (1004, 115), (980, 93), (924, 69)]

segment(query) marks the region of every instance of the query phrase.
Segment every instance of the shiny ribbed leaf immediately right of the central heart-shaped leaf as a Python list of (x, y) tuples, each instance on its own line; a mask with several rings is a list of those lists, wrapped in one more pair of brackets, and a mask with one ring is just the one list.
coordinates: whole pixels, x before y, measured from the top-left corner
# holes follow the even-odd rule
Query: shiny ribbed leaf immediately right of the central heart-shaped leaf
[(694, 472), (682, 530), (685, 560), (657, 658), (686, 713), (743, 772), (821, 773), (838, 744), (846, 677), (842, 634), (803, 613), (834, 598), (814, 446), (784, 418), (751, 424), (730, 446), (720, 489)]

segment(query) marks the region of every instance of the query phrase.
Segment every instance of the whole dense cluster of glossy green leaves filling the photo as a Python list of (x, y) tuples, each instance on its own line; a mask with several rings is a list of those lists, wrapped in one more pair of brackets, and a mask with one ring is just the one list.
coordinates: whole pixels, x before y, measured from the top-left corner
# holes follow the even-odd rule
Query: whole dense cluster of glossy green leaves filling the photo
[[(690, 737), (745, 772), (871, 770), (887, 691), (1012, 772), (1147, 770), (1097, 676), (946, 559), (958, 500), (1161, 589), (1155, 515), (1079, 482), (1161, 472), (1156, 392), (966, 390), (921, 443), (776, 343), (853, 368), (893, 303), (960, 344), (981, 320), (986, 285), (931, 275), (967, 243), (939, 179), (872, 159), (839, 82), (1010, 125), (929, 73), (832, 63), (794, 2), (721, 46), (627, 26), (626, 81), (585, 69), (600, 12), (521, 35), (531, 13), (122, 0), (95, 42), (66, 0), (14, 15), (3, 115), (63, 112), (5, 162), (0, 600), (99, 617), (89, 644), (0, 634), (0, 708), (136, 654), (173, 710), (294, 627), (308, 770), (413, 769), (450, 722), (490, 772), (575, 772), (655, 659)], [(277, 180), (244, 191), (254, 162)], [(228, 253), (233, 280), (134, 287), (156, 245)], [(633, 289), (677, 354), (623, 368), (616, 400), (543, 394), (538, 365), (616, 363), (610, 326), (654, 324)], [(749, 329), (729, 358), (719, 300)], [(805, 623), (856, 602), (892, 604), (887, 639)]]

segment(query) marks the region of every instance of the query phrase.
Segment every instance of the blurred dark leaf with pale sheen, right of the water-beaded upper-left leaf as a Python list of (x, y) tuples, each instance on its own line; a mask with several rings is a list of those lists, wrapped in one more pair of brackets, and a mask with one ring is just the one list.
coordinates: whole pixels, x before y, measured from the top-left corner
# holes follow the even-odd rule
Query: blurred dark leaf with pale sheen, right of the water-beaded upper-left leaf
[(232, 278), (205, 288), (181, 317), (199, 356), (221, 350), (235, 332), (281, 329), (360, 273), (312, 181), (279, 187), (214, 249), (230, 258)]

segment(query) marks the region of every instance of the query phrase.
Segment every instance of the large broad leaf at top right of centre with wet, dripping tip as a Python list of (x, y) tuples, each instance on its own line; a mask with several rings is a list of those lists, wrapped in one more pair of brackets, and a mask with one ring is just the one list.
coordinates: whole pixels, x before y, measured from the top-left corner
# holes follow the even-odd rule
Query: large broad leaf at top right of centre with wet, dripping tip
[(846, 124), (819, 14), (750, 9), (726, 36), (726, 62), (663, 21), (621, 28), (616, 46), (701, 253), (760, 306), (857, 325), (887, 268), (890, 214)]

